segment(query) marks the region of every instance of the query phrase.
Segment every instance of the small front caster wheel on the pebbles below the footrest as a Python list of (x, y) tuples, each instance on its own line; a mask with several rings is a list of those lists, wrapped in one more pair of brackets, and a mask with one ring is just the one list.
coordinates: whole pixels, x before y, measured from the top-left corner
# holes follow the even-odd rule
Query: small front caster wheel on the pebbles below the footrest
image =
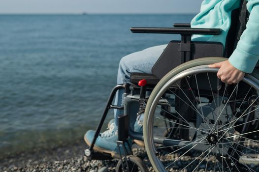
[(127, 167), (125, 158), (123, 158), (123, 165), (122, 160), (120, 160), (116, 166), (116, 172), (148, 172), (147, 166), (139, 157), (130, 155), (127, 156), (127, 159), (129, 169)]

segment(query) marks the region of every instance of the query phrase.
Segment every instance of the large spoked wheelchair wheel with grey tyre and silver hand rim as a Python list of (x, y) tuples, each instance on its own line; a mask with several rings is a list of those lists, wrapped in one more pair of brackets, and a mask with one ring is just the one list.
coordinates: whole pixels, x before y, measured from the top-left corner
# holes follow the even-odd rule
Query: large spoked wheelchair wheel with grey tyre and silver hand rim
[[(206, 57), (184, 63), (152, 91), (143, 135), (156, 172), (259, 172), (259, 73), (226, 85), (217, 78), (218, 69), (207, 66), (224, 60)], [(161, 116), (165, 106), (169, 118)], [(178, 138), (169, 137), (168, 131), (177, 131)]]

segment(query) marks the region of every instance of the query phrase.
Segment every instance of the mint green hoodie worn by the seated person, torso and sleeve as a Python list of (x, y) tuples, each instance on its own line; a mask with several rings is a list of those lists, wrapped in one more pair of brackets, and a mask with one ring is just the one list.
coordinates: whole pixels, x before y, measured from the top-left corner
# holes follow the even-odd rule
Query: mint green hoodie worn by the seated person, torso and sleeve
[[(250, 12), (247, 29), (241, 35), (229, 62), (237, 69), (252, 73), (259, 59), (259, 0), (247, 0)], [(226, 43), (231, 25), (231, 11), (240, 6), (240, 0), (203, 0), (200, 13), (191, 22), (192, 28), (220, 28), (220, 35), (194, 35), (193, 40)]]

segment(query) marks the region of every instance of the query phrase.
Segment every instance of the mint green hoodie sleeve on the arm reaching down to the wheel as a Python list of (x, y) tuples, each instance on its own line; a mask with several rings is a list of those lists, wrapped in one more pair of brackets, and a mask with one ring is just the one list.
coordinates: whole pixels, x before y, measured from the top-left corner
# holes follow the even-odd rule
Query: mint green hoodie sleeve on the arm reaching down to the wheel
[(252, 73), (259, 59), (259, 0), (249, 0), (247, 9), (249, 21), (228, 60), (235, 68)]

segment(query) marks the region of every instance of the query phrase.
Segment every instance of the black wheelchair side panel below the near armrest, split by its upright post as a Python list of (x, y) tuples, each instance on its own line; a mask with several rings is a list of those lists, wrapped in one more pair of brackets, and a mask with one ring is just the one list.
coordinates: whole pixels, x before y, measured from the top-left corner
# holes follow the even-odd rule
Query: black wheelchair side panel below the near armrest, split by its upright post
[[(152, 73), (162, 79), (170, 70), (182, 64), (180, 41), (171, 41), (152, 68)], [(223, 57), (223, 45), (218, 42), (192, 42), (192, 59), (201, 57)]]

